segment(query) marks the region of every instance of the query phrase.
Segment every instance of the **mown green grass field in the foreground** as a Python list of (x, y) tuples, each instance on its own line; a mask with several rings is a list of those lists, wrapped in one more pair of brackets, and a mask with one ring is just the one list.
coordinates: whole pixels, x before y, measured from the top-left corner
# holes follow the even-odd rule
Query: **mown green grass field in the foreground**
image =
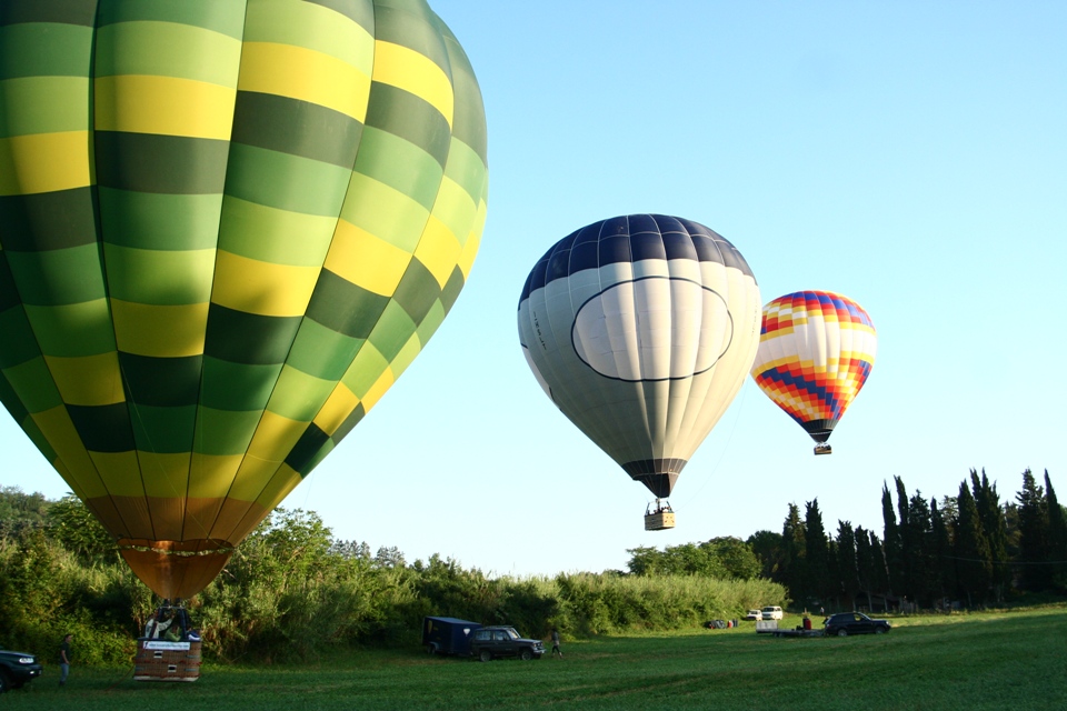
[(206, 665), (193, 683), (134, 682), (132, 667), (76, 665), (59, 689), (49, 665), (26, 690), (0, 697), (0, 708), (1067, 709), (1067, 608), (891, 622), (879, 637), (775, 639), (742, 623), (565, 641), (565, 659), (535, 662), (369, 650), (292, 667)]

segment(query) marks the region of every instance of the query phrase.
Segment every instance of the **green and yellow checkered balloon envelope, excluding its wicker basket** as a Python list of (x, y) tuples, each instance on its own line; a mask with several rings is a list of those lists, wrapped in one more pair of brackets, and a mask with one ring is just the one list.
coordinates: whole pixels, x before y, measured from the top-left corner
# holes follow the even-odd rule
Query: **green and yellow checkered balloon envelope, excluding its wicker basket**
[(487, 184), (423, 0), (3, 0), (0, 399), (195, 594), (440, 326)]

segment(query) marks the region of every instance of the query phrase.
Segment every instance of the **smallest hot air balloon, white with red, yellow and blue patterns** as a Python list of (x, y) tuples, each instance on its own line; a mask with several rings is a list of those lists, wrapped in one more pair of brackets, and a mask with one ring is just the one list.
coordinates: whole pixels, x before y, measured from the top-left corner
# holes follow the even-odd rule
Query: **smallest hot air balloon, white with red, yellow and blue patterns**
[(826, 440), (875, 364), (875, 326), (829, 291), (797, 291), (764, 307), (752, 378), (829, 454)]

